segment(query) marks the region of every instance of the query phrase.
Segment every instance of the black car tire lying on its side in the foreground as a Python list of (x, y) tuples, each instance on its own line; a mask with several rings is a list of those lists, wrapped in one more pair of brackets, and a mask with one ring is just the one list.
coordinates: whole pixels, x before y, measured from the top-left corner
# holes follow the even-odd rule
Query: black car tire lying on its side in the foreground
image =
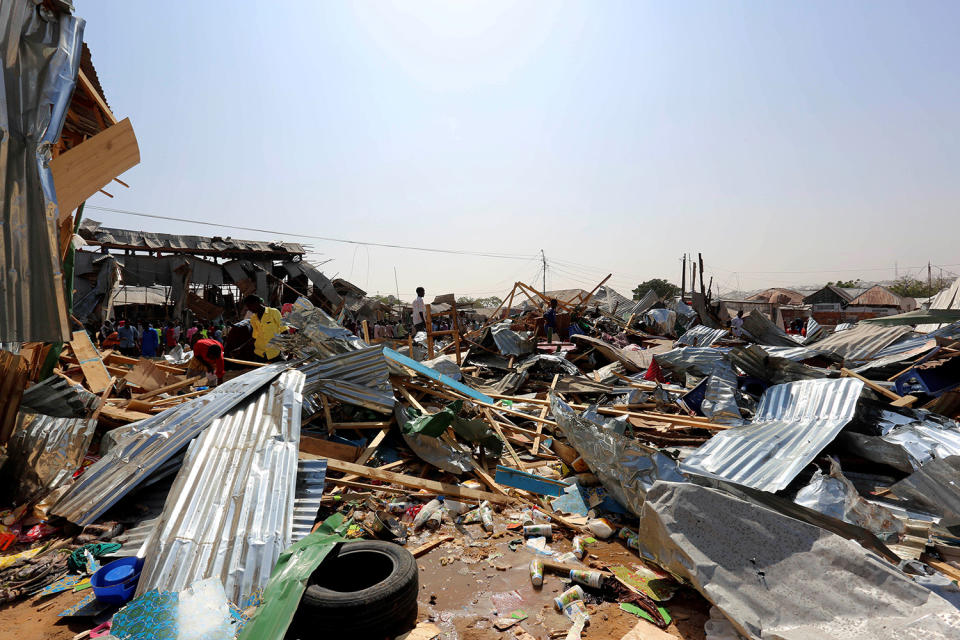
[(301, 638), (323, 630), (351, 638), (393, 638), (417, 622), (417, 561), (392, 542), (364, 540), (334, 547), (307, 581), (292, 630)]

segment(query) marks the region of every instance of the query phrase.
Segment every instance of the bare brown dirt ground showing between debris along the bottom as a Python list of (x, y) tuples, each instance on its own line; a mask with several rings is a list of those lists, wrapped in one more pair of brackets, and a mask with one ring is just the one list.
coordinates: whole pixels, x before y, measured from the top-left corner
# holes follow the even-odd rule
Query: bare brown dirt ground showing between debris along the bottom
[[(522, 548), (512, 551), (509, 546), (516, 535), (489, 537), (479, 525), (467, 525), (460, 531), (444, 525), (440, 531), (411, 538), (407, 548), (443, 534), (454, 539), (417, 560), (419, 620), (430, 620), (440, 627), (441, 640), (513, 640), (517, 628), (537, 640), (566, 635), (570, 621), (554, 609), (553, 598), (568, 581), (548, 571), (543, 586), (533, 587), (529, 575), (532, 555)], [(565, 538), (555, 538), (550, 546), (560, 553), (572, 548)], [(627, 567), (640, 564), (639, 557), (617, 539), (601, 540), (589, 547), (586, 561)], [(84, 593), (67, 591), (0, 607), (0, 640), (71, 640), (91, 629), (97, 624), (93, 618), (57, 617)], [(680, 589), (665, 606), (673, 617), (668, 633), (685, 640), (704, 640), (709, 604), (699, 594)], [(528, 617), (505, 631), (494, 627), (498, 612), (503, 615), (516, 609), (522, 609)], [(588, 640), (619, 640), (639, 620), (613, 602), (588, 603), (588, 610), (590, 624), (583, 631)]]

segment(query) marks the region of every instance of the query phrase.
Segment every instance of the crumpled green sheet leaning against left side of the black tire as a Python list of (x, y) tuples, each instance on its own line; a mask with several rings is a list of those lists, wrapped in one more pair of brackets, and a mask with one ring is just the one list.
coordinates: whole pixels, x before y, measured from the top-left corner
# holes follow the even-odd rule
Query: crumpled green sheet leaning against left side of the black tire
[(307, 589), (307, 579), (334, 545), (346, 540), (341, 535), (345, 524), (349, 523), (344, 523), (343, 514), (335, 513), (280, 554), (263, 590), (263, 604), (243, 627), (239, 640), (282, 640)]

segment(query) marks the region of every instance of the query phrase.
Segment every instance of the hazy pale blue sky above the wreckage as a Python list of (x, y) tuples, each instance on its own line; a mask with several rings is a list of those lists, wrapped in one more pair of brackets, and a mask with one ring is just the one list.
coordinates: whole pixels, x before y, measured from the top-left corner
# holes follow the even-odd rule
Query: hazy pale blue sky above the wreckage
[[(110, 226), (299, 240), (369, 292), (960, 271), (958, 2), (75, 0), (141, 164)], [(437, 255), (303, 238), (520, 256)], [(923, 270), (925, 276), (926, 269)]]

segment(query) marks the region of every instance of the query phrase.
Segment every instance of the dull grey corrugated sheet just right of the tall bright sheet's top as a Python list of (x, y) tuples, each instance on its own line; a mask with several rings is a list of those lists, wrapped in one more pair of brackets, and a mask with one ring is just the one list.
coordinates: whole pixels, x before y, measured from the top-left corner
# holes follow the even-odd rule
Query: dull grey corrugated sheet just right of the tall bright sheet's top
[(307, 377), (305, 396), (322, 393), (380, 413), (393, 411), (396, 400), (382, 346), (307, 361), (298, 368)]

